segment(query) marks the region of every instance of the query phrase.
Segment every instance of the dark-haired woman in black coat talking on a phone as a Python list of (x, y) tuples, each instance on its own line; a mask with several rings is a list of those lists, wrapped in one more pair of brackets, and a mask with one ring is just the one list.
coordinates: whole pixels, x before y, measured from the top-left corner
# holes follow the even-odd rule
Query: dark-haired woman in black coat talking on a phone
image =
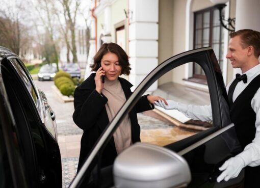
[[(103, 44), (96, 53), (91, 68), (96, 73), (92, 73), (74, 92), (73, 120), (84, 130), (78, 171), (102, 131), (132, 94), (130, 88), (133, 85), (119, 77), (121, 74), (129, 75), (131, 70), (128, 56), (119, 45)], [(104, 83), (102, 77), (105, 77)], [(152, 110), (154, 101), (158, 100), (165, 101), (161, 97), (151, 95), (139, 99), (103, 150), (101, 167), (112, 165), (117, 154), (133, 143), (140, 142), (137, 113)]]

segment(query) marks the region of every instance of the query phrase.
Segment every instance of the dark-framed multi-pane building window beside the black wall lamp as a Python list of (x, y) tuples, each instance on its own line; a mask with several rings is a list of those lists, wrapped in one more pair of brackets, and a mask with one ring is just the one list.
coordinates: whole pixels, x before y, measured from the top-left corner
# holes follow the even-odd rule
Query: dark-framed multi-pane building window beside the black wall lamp
[[(219, 10), (212, 7), (194, 13), (194, 46), (211, 46), (215, 52), (221, 70), (223, 70), (224, 29), (219, 21)], [(201, 67), (193, 64), (193, 77), (205, 79)]]

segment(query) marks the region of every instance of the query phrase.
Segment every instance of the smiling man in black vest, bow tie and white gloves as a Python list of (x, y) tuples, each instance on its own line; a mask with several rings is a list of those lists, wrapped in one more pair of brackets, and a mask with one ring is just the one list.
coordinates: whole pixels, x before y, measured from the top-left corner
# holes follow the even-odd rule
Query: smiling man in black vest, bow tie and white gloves
[[(246, 29), (232, 32), (229, 36), (226, 58), (233, 68), (240, 68), (243, 73), (242, 76), (237, 74), (226, 87), (231, 120), (243, 152), (226, 160), (219, 168), (223, 172), (217, 181), (235, 178), (246, 167), (245, 187), (255, 187), (260, 177), (260, 33)], [(212, 119), (211, 106), (186, 105), (171, 100), (167, 102), (168, 105), (163, 101), (156, 104), (167, 110), (177, 109), (192, 119)]]

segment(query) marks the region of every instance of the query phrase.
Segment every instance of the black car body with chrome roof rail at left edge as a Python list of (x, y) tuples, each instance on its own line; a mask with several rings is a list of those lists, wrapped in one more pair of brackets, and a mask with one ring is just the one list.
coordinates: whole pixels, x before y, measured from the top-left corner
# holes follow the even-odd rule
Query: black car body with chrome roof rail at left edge
[(0, 47), (1, 187), (62, 187), (55, 114), (21, 59)]

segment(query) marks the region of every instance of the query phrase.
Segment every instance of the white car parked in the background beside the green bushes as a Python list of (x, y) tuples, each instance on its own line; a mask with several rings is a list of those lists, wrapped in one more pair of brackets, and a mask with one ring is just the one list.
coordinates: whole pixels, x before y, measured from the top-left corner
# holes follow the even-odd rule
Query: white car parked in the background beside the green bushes
[(57, 67), (50, 65), (43, 65), (38, 73), (38, 80), (53, 80), (57, 72)]

